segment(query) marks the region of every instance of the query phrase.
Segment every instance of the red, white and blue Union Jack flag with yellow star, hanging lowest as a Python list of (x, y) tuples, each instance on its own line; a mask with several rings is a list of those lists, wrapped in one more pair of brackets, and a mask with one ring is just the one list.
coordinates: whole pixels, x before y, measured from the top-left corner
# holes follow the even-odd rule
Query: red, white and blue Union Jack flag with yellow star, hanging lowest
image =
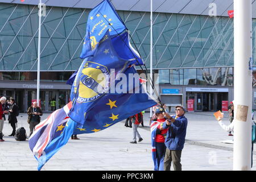
[(64, 144), (68, 142), (76, 122), (68, 117), (72, 102), (63, 108), (54, 111), (47, 119), (35, 127), (30, 137), (29, 146), (36, 160), (38, 170), (54, 155)]

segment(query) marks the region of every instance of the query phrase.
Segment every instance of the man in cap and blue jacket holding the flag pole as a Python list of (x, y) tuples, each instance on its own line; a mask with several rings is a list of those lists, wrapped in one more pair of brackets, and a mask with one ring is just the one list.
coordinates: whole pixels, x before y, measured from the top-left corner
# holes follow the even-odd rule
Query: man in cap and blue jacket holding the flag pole
[(185, 109), (183, 106), (176, 106), (176, 115), (170, 116), (163, 113), (167, 121), (163, 124), (163, 129), (167, 129), (165, 140), (166, 155), (164, 157), (164, 171), (170, 171), (171, 163), (174, 165), (174, 171), (181, 171), (181, 151), (185, 143), (188, 120), (185, 118)]

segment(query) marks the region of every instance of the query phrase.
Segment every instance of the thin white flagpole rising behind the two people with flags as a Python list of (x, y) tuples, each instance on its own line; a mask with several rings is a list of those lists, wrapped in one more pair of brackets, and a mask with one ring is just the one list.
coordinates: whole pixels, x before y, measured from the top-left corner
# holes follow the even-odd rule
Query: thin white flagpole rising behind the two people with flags
[[(152, 0), (150, 0), (150, 81), (154, 81), (153, 80), (153, 13), (152, 13)], [(150, 86), (150, 96), (152, 96), (153, 93), (153, 88), (152, 85), (154, 83), (151, 84)], [(150, 107), (150, 117), (152, 117), (152, 107)]]

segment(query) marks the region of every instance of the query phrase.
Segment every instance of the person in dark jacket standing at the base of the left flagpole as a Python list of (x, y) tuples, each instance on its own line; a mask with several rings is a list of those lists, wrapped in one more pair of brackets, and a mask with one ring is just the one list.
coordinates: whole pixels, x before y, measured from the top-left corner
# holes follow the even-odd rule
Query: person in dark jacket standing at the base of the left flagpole
[(40, 116), (43, 115), (42, 110), (38, 107), (38, 102), (33, 102), (33, 105), (27, 109), (28, 119), (27, 122), (30, 124), (30, 136), (32, 135), (35, 126), (40, 123)]

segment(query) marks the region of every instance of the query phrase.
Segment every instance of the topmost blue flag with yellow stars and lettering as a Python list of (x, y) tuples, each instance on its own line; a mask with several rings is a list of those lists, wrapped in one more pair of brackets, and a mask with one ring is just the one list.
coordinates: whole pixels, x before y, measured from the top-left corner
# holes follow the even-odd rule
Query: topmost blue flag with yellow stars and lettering
[(82, 47), (81, 59), (84, 59), (89, 51), (94, 50), (100, 40), (109, 31), (110, 35), (118, 35), (126, 30), (122, 19), (114, 10), (109, 0), (102, 1), (89, 13), (84, 45)]

